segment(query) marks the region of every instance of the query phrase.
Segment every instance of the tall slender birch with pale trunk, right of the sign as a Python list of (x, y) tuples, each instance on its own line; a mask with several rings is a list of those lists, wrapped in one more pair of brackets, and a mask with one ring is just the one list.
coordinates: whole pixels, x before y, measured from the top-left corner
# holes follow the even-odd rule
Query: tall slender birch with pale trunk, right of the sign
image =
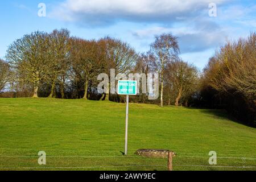
[(161, 81), (161, 107), (163, 107), (164, 68), (167, 63), (174, 60), (179, 54), (177, 38), (172, 34), (155, 36), (155, 42), (151, 44), (151, 51), (156, 57), (156, 65)]

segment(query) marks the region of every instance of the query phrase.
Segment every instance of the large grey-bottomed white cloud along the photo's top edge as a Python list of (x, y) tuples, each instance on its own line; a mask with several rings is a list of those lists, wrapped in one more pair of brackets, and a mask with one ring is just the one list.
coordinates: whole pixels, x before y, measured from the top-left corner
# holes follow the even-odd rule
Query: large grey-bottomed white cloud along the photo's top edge
[[(221, 5), (229, 0), (214, 0)], [(51, 16), (87, 26), (104, 26), (118, 20), (163, 22), (191, 17), (208, 10), (212, 0), (67, 0)], [(207, 14), (208, 15), (208, 14)]]

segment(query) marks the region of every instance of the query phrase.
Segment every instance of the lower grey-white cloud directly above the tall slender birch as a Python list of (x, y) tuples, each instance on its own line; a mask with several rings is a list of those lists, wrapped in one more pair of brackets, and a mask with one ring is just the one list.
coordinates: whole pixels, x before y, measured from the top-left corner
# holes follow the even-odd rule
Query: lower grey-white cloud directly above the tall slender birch
[(140, 40), (152, 40), (154, 35), (168, 33), (177, 36), (181, 53), (205, 51), (225, 43), (227, 33), (224, 28), (210, 20), (193, 20), (172, 27), (152, 26), (132, 32)]

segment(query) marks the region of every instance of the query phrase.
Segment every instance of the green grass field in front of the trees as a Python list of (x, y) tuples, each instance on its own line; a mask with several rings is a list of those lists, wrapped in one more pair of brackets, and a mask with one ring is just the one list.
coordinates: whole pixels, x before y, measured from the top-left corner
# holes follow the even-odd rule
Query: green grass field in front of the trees
[[(123, 156), (125, 104), (0, 98), (0, 170), (167, 169), (167, 159), (134, 155), (140, 148), (174, 150), (174, 170), (256, 170), (256, 129), (224, 111), (130, 104), (129, 117)], [(216, 166), (208, 163), (212, 150)]]

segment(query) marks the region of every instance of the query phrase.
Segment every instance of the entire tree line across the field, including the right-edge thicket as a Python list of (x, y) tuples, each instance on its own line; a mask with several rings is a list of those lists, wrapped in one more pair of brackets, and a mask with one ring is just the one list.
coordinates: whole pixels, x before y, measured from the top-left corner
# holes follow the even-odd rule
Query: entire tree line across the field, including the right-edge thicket
[[(117, 94), (97, 93), (100, 73), (159, 73), (160, 97), (148, 93), (134, 102), (225, 108), (240, 121), (256, 120), (256, 35), (228, 42), (200, 74), (179, 57), (172, 34), (155, 37), (147, 53), (113, 38), (84, 40), (65, 29), (33, 32), (12, 43), (0, 61), (0, 90), (5, 97), (56, 97), (123, 101)], [(6, 89), (4, 89), (6, 88)]]

